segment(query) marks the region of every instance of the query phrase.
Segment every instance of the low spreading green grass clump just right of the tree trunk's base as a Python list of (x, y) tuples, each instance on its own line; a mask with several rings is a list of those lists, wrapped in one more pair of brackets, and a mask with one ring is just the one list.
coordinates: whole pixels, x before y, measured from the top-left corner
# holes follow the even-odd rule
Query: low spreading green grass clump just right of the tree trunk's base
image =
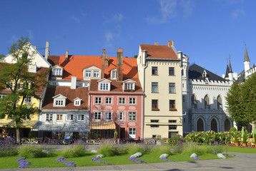
[(22, 145), (18, 147), (19, 157), (26, 158), (39, 158), (39, 157), (51, 157), (54, 155), (52, 150), (44, 150), (43, 147), (36, 147), (32, 145)]

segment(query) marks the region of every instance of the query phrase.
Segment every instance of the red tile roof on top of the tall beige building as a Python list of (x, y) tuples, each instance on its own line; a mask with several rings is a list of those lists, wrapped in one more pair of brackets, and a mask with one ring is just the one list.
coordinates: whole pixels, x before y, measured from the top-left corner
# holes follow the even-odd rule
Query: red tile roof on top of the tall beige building
[(167, 45), (148, 45), (141, 44), (140, 47), (147, 51), (148, 58), (170, 58), (177, 59), (176, 53)]

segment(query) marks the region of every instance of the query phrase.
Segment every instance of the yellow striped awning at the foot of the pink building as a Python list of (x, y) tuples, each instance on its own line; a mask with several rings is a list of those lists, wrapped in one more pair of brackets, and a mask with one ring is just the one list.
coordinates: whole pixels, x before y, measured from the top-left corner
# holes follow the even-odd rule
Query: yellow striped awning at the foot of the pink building
[(94, 120), (90, 122), (89, 129), (92, 130), (115, 130), (116, 124), (114, 121), (102, 121), (102, 120)]

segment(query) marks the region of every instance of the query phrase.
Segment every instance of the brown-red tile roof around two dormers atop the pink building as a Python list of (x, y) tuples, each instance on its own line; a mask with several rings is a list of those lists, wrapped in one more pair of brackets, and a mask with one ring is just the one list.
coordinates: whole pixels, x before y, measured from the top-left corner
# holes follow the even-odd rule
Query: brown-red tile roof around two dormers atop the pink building
[[(134, 92), (143, 92), (142, 86), (141, 86), (141, 84), (139, 82), (139, 78), (130, 78), (130, 79), (133, 80), (133, 81), (136, 81)], [(97, 81), (99, 81), (99, 80), (98, 79), (92, 79), (91, 80), (90, 92), (91, 91), (98, 91), (98, 82)], [(116, 80), (110, 80), (110, 81), (112, 81), (110, 92), (123, 92), (123, 90), (122, 90), (122, 82), (117, 82)]]

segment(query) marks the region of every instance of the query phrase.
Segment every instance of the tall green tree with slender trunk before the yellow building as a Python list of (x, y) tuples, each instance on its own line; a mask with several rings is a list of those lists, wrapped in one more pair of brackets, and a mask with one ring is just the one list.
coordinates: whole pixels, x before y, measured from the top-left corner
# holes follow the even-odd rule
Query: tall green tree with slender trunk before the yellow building
[(14, 63), (0, 63), (0, 92), (8, 89), (9, 93), (1, 100), (0, 118), (12, 119), (16, 122), (16, 140), (20, 142), (20, 128), (24, 118), (39, 112), (34, 105), (27, 105), (26, 98), (40, 99), (36, 94), (46, 86), (46, 73), (30, 73), (28, 67), (34, 58), (29, 51), (29, 38), (21, 37), (9, 48), (9, 55)]

